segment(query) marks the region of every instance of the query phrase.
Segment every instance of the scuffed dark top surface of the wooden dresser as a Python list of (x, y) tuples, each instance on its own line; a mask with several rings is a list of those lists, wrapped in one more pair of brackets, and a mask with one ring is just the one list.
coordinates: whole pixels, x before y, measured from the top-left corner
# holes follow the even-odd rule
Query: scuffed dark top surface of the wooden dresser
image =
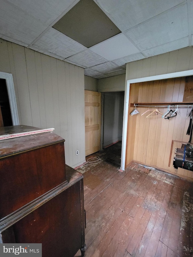
[[(1, 127), (0, 135), (29, 132), (34, 130), (40, 130), (40, 128), (25, 125)], [(65, 140), (62, 137), (53, 132), (44, 132), (40, 134), (0, 140), (0, 158), (64, 141)]]

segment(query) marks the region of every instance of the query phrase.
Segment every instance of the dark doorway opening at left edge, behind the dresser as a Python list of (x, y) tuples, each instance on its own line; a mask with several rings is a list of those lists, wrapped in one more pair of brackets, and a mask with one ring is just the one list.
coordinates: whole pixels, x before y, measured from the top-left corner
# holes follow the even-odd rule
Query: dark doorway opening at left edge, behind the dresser
[(5, 79), (0, 79), (0, 106), (2, 113), (3, 126), (12, 126), (11, 109), (9, 104), (9, 96)]

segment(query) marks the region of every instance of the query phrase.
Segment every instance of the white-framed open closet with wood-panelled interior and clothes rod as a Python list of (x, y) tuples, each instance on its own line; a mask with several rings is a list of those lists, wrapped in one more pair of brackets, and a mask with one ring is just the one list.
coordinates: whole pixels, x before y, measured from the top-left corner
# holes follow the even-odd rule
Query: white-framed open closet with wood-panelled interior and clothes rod
[[(186, 135), (189, 111), (193, 104), (193, 70), (128, 80), (125, 90), (122, 164), (123, 170), (131, 161), (158, 168), (172, 174), (171, 158), (175, 147), (188, 143)], [(130, 115), (134, 105), (140, 114)], [(177, 115), (163, 118), (169, 105), (177, 109)], [(180, 107), (181, 105), (181, 107)], [(175, 106), (175, 108), (174, 108)], [(143, 116), (141, 114), (150, 111)], [(158, 109), (159, 112), (153, 113)], [(152, 111), (152, 114), (150, 114)], [(171, 112), (171, 110), (170, 110)], [(156, 115), (158, 114), (159, 115)], [(147, 118), (148, 117), (148, 118)], [(126, 139), (126, 140), (125, 140)]]

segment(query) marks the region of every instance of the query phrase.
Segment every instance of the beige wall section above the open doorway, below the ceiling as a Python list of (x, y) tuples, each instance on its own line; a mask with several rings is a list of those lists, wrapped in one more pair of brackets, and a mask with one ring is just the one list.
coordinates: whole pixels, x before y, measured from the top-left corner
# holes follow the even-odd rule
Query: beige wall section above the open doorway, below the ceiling
[(125, 74), (98, 80), (98, 92), (125, 91)]

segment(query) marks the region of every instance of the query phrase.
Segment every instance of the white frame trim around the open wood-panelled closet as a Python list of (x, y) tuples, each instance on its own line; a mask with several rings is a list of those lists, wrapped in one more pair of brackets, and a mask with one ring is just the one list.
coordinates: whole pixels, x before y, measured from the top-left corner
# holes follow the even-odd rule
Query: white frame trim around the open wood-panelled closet
[(129, 108), (129, 89), (130, 84), (139, 83), (139, 82), (147, 82), (152, 80), (162, 80), (162, 79), (171, 79), (177, 77), (186, 77), (192, 76), (193, 70), (189, 71), (179, 71), (167, 74), (161, 74), (151, 77), (143, 77), (132, 80), (127, 80), (125, 84), (125, 99), (124, 99), (124, 111), (123, 111), (123, 133), (122, 133), (122, 150), (121, 150), (121, 167), (120, 170), (125, 171), (125, 159), (126, 159), (126, 144), (127, 144), (127, 128), (128, 128), (128, 108)]

